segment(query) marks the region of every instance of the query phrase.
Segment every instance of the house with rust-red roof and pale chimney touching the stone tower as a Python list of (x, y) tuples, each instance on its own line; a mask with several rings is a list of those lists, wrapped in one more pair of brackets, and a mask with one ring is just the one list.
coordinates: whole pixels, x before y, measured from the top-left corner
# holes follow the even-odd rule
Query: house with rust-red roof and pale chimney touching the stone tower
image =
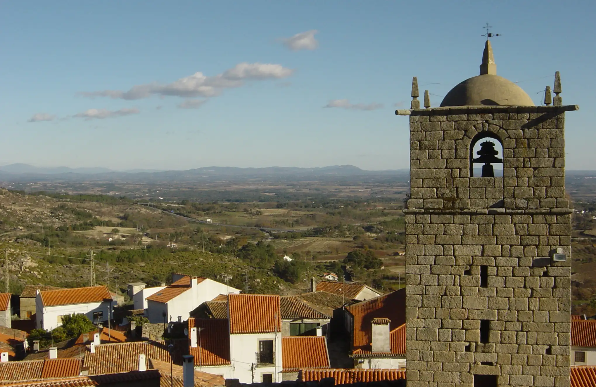
[(349, 305), (344, 313), (356, 368), (406, 366), (405, 289)]

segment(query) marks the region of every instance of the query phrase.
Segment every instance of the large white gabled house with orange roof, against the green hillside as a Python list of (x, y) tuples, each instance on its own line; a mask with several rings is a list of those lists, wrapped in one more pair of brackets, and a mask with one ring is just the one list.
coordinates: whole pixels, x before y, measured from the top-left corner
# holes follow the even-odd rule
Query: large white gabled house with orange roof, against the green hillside
[(190, 312), (219, 294), (240, 293), (240, 289), (209, 278), (172, 274), (172, 285), (147, 297), (147, 317), (151, 323), (187, 320)]

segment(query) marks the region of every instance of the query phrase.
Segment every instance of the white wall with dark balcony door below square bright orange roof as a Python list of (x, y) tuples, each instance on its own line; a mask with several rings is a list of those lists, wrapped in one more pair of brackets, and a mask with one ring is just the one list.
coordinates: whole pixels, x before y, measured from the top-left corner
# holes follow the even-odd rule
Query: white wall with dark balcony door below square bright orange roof
[(254, 364), (254, 382), (260, 383), (263, 373), (271, 373), (273, 374), (273, 382), (281, 382), (281, 370), (283, 370), (283, 364), (281, 363), (281, 332), (277, 332), (229, 336), (232, 378), (240, 379), (240, 383), (253, 382), (251, 366), (256, 363), (260, 340), (274, 341), (275, 365), (265, 367)]

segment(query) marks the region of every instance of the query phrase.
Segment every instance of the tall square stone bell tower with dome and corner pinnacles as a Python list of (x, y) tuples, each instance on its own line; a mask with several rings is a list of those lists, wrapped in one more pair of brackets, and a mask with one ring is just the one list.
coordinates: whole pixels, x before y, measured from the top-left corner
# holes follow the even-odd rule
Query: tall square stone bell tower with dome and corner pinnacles
[(487, 40), (480, 75), (440, 107), (426, 91), (420, 108), (414, 77), (411, 109), (396, 111), (409, 116), (411, 149), (408, 387), (569, 386), (564, 116), (578, 106), (562, 104), (558, 71), (553, 91), (535, 106), (496, 75)]

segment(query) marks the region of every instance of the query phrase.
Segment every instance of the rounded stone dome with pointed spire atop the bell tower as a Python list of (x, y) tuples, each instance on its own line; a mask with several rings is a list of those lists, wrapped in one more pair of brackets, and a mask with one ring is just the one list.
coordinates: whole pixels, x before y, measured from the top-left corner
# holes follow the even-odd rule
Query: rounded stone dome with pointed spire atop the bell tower
[(532, 98), (515, 83), (496, 75), (491, 42), (486, 40), (480, 64), (480, 75), (471, 77), (451, 89), (441, 106), (534, 106)]

